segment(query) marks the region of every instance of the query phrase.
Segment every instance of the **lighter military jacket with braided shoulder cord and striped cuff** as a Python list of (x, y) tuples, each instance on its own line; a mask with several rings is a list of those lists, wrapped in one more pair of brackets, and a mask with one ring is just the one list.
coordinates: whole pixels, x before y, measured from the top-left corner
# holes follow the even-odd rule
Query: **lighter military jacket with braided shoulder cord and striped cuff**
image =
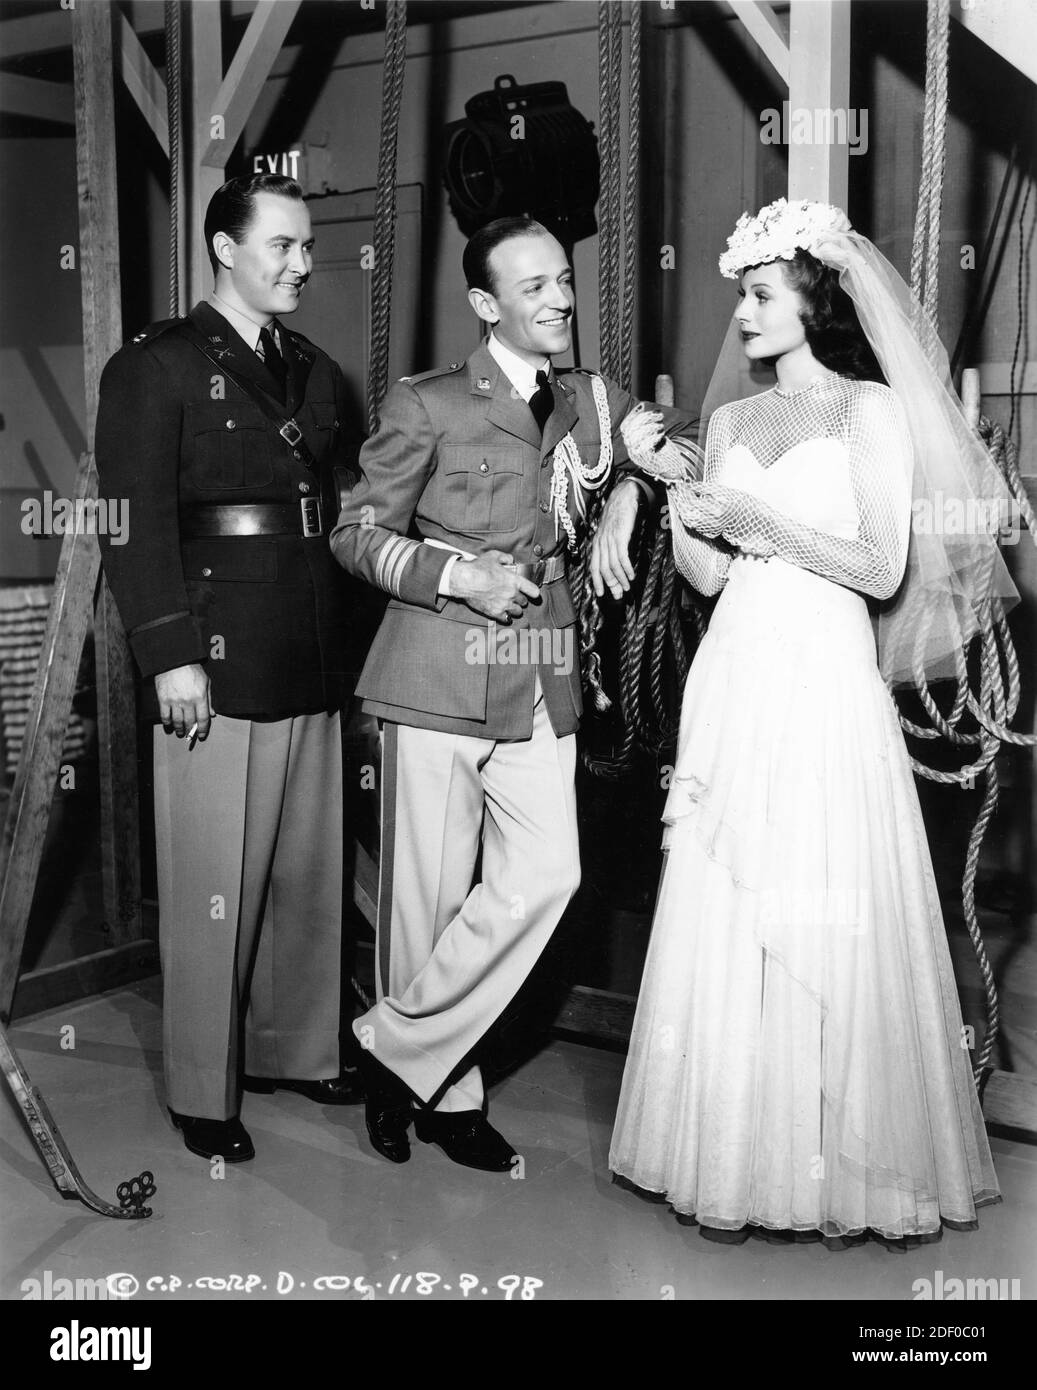
[[(552, 505), (553, 450), (567, 432), (584, 464), (598, 461), (602, 427), (591, 375), (550, 373), (553, 411), (544, 436), (489, 349), (466, 363), (396, 382), (360, 452), (332, 550), (350, 573), (391, 595), (357, 692), (393, 723), (484, 738), (528, 738), (539, 676), (555, 733), (581, 714), (577, 614), (566, 578), (541, 587), (509, 627), (438, 592), (452, 546), (505, 550), (530, 563), (562, 550)], [(620, 421), (632, 398), (605, 381), (614, 464), (627, 464)], [(658, 407), (663, 409), (663, 407)], [(692, 417), (663, 410), (669, 432)], [(607, 484), (606, 484), (607, 488)], [(574, 523), (580, 500), (570, 484)], [(428, 542), (439, 542), (430, 545)]]

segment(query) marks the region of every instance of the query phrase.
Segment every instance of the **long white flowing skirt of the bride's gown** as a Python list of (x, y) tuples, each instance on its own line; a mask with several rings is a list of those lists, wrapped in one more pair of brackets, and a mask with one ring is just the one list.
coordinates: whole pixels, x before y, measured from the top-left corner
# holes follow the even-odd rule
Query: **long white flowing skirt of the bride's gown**
[(734, 562), (664, 820), (610, 1168), (720, 1229), (972, 1225), (998, 1184), (859, 595)]

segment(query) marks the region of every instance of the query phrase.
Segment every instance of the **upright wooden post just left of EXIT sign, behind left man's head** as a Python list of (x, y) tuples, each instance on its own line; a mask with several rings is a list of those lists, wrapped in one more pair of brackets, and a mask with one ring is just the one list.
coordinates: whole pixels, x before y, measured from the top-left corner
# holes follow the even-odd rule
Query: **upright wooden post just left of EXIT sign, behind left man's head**
[(186, 185), (181, 185), (186, 186), (189, 196), (181, 199), (181, 207), (188, 208), (182, 239), (186, 243), (188, 264), (183, 307), (189, 309), (199, 299), (204, 299), (213, 285), (203, 227), (209, 200), (224, 182), (224, 170), (232, 146), (225, 146), (217, 164), (207, 165), (202, 161), (202, 152), (211, 142), (211, 117), (217, 110), (217, 93), (224, 75), (220, 6), (192, 4), (185, 21), (190, 32), (190, 44), (183, 44), (185, 51), (189, 49), (190, 53), (185, 96), (185, 110), (190, 115), (186, 118), (189, 126), (185, 133), (192, 157), (190, 177), (186, 178)]

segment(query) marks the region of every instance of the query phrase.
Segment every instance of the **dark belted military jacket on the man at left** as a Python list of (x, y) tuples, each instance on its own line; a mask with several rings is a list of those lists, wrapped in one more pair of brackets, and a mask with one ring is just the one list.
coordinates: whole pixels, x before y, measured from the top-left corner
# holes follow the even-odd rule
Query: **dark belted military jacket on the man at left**
[[(349, 468), (359, 442), (345, 428), (342, 373), (279, 324), (282, 404), (266, 366), (221, 314), (200, 303), (189, 320), (217, 363), (190, 341), (186, 321), (167, 320), (120, 349), (100, 384), (99, 491), (125, 499), (129, 520), (124, 545), (101, 537), (101, 556), (133, 656), (145, 677), (204, 666), (218, 714), (270, 720), (339, 709), (370, 637), (359, 620), (370, 599), (328, 548), (336, 470)], [(316, 467), (231, 371), (272, 392)], [(192, 538), (192, 518), (211, 505), (281, 503), (293, 516), (304, 498), (320, 498), (322, 535), (303, 537), (300, 527)], [(152, 681), (145, 698), (157, 717)]]

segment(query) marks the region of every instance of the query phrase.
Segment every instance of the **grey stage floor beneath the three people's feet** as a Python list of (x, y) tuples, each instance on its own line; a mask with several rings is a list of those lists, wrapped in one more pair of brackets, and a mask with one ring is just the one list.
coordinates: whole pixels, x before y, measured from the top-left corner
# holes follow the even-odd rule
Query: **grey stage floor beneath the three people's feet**
[[(491, 1091), (491, 1118), (521, 1154), (521, 1177), (459, 1168), (418, 1143), (409, 1163), (392, 1166), (371, 1150), (360, 1106), (321, 1108), (291, 1093), (246, 1095), (257, 1155), (214, 1177), (165, 1113), (158, 988), (146, 980), (11, 1029), (85, 1180), (113, 1200), (120, 1182), (150, 1169), (157, 1191), (154, 1215), (140, 1222), (61, 1198), (3, 1087), (0, 1298), (25, 1298), (32, 1280), (54, 1290), (58, 1279), (121, 1273), (139, 1284), (135, 1301), (352, 1300), (359, 1276), (375, 1298), (410, 1300), (423, 1297), (423, 1272), (434, 1297), (462, 1298), (467, 1286), (468, 1301), (503, 1300), (509, 1287), (513, 1298), (527, 1287), (541, 1300), (904, 1301), (938, 1270), (944, 1280), (1019, 1279), (1033, 1297), (1037, 1147), (994, 1138), (1004, 1202), (980, 1212), (979, 1230), (945, 1232), (906, 1254), (717, 1245), (610, 1182), (623, 1056), (574, 1042), (550, 1042)], [(234, 1290), (235, 1275), (242, 1290), (252, 1277), (250, 1293)]]

